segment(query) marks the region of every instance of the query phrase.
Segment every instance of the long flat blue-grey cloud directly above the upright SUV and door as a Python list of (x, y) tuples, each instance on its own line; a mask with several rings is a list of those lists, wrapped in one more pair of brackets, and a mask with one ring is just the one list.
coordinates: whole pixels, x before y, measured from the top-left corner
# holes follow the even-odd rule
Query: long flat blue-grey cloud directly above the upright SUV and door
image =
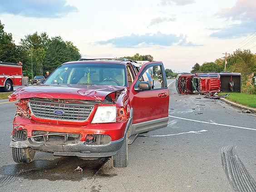
[(98, 44), (112, 44), (114, 47), (120, 48), (133, 48), (133, 47), (149, 47), (153, 45), (171, 46), (198, 46), (192, 42), (187, 42), (186, 36), (180, 34), (162, 34), (158, 32), (156, 34), (131, 34), (130, 36), (116, 37), (108, 39), (106, 41), (98, 41)]

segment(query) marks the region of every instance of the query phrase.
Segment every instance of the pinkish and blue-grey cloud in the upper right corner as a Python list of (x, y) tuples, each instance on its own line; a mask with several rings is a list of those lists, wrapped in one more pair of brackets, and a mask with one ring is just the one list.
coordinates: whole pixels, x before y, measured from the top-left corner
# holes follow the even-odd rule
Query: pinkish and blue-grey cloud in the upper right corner
[(237, 0), (230, 8), (222, 8), (216, 15), (234, 24), (211, 34), (217, 38), (237, 38), (256, 30), (256, 1)]

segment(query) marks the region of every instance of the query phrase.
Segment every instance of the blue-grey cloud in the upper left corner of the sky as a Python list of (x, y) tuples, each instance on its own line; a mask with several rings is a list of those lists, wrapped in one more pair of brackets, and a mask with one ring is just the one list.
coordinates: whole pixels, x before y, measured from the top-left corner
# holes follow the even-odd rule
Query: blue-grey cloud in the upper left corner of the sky
[(77, 8), (66, 0), (0, 0), (0, 13), (37, 18), (59, 18)]

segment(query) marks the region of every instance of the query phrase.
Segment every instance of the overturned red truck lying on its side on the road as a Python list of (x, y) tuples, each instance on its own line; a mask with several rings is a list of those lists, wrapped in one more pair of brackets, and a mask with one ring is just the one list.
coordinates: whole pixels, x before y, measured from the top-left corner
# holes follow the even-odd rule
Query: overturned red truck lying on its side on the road
[(179, 94), (241, 92), (241, 74), (229, 72), (178, 74), (176, 89)]

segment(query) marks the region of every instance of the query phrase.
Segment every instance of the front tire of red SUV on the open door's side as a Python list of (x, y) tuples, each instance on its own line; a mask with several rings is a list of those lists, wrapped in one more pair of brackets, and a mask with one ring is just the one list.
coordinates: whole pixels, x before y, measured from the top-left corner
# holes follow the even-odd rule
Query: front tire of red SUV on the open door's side
[(127, 134), (124, 137), (123, 145), (118, 150), (117, 154), (113, 156), (113, 167), (127, 167), (128, 166), (128, 138)]

